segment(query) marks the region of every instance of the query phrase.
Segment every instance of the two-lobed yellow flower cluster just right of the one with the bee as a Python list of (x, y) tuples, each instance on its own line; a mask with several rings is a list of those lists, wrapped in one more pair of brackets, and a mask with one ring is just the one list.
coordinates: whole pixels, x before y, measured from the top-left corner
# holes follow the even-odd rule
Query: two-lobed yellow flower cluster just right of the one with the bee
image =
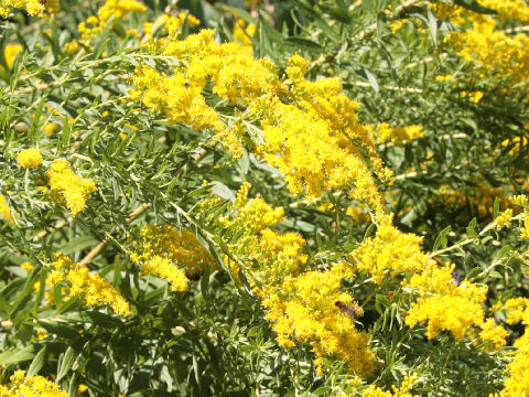
[(402, 285), (411, 288), (418, 299), (406, 315), (406, 324), (413, 328), (427, 323), (430, 339), (444, 330), (461, 340), (469, 328), (484, 323), (482, 303), (487, 288), (467, 281), (457, 285), (452, 275), (454, 267), (439, 267), (422, 253), (421, 242), (417, 235), (398, 230), (387, 217), (379, 224), (375, 237), (367, 238), (350, 253), (349, 260), (355, 264), (355, 270), (368, 272), (377, 283), (386, 277), (411, 275)]

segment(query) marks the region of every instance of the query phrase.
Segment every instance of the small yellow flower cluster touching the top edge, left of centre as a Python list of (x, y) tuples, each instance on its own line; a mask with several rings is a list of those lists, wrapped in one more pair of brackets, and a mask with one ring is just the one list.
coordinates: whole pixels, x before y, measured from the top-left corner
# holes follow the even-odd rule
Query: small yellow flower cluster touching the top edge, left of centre
[(121, 19), (129, 12), (143, 12), (147, 7), (136, 0), (106, 0), (105, 4), (97, 10), (97, 17), (88, 17), (86, 22), (80, 22), (77, 30), (84, 40), (99, 34), (107, 24), (108, 20)]

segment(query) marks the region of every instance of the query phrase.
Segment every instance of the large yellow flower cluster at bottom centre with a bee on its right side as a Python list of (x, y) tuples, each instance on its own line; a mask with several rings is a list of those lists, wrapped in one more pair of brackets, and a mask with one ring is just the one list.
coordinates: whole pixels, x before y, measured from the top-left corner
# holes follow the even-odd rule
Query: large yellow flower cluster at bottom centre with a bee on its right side
[(352, 276), (345, 264), (326, 271), (287, 276), (282, 283), (268, 287), (262, 300), (278, 342), (285, 347), (293, 346), (293, 340), (311, 345), (319, 372), (324, 369), (323, 357), (342, 360), (348, 372), (360, 376), (374, 369), (368, 335), (357, 331), (354, 319), (336, 307), (336, 302), (356, 305), (350, 294), (339, 291), (342, 280)]

